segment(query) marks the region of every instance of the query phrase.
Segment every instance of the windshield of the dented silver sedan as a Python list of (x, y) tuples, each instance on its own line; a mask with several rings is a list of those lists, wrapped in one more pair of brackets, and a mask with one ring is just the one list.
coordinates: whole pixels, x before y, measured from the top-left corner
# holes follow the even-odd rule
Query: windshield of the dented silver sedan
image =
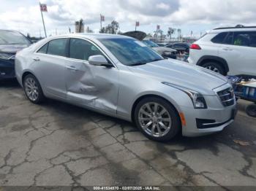
[(127, 66), (162, 60), (162, 56), (136, 39), (99, 39), (99, 42)]

